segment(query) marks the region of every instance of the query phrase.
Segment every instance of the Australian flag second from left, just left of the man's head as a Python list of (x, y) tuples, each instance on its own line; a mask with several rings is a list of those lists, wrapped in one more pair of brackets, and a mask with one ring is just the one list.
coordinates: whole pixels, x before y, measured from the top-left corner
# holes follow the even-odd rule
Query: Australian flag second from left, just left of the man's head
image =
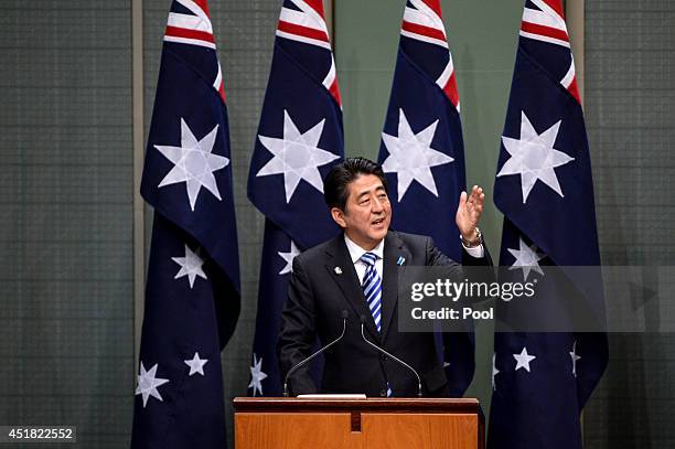
[(286, 0), (248, 175), (248, 196), (265, 214), (253, 396), (279, 396), (276, 356), (292, 259), (335, 236), (323, 178), (344, 156), (342, 107), (322, 0)]

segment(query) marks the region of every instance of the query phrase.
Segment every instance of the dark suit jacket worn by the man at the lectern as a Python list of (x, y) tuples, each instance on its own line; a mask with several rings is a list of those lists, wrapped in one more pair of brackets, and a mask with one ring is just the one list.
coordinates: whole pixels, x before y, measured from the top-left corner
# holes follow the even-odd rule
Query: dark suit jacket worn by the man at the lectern
[[(382, 335), (358, 282), (344, 236), (318, 245), (293, 260), (288, 301), (281, 316), (278, 356), (281, 374), (306, 359), (317, 336), (325, 345), (342, 332), (342, 311), (347, 311), (344, 338), (325, 353), (322, 393), (365, 393), (385, 396), (387, 383), (395, 396), (417, 395), (417, 378), (397, 362), (383, 356), (361, 336), (361, 316), (366, 317), (366, 338), (410, 364), (422, 378), (425, 396), (449, 396), (442, 364), (438, 360), (432, 333), (398, 332), (396, 261), (406, 265), (448, 266), (451, 276), (461, 277), (461, 266), (438, 250), (430, 237), (389, 231), (384, 244)], [(464, 265), (489, 265), (490, 255), (476, 259), (464, 252)], [(340, 269), (336, 270), (335, 268)], [(465, 334), (473, 348), (473, 335)], [(282, 378), (283, 381), (283, 378)], [(470, 379), (468, 379), (470, 382)], [(468, 385), (468, 383), (467, 383)], [(318, 393), (307, 368), (289, 381), (293, 395)]]

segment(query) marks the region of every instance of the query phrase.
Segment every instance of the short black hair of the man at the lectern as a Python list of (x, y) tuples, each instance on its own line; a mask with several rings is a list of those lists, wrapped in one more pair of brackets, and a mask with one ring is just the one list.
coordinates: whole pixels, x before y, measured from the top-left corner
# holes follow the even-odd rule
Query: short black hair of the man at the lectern
[(379, 178), (385, 192), (389, 193), (381, 164), (365, 158), (347, 158), (333, 167), (323, 180), (323, 197), (329, 209), (338, 207), (344, 211), (350, 195), (349, 184), (362, 174), (374, 174)]

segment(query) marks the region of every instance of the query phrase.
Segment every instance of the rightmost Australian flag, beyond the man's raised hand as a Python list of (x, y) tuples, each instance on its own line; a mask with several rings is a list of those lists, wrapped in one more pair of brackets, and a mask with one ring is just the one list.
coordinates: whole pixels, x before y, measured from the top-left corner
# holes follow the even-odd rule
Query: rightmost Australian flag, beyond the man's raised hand
[[(547, 266), (600, 265), (588, 141), (560, 0), (525, 3), (494, 201), (504, 213), (500, 265), (521, 281), (546, 290)], [(570, 281), (601, 330), (601, 279)], [(580, 411), (607, 365), (607, 335), (495, 333), (494, 346), (489, 447), (580, 449)]]

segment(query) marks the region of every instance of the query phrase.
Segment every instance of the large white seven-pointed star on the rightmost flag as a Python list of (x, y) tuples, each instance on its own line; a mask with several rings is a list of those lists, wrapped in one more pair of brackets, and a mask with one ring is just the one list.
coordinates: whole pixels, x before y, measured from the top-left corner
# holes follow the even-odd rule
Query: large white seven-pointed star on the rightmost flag
[(538, 135), (525, 111), (522, 111), (521, 138), (514, 139), (502, 136), (502, 142), (511, 158), (504, 162), (497, 178), (508, 174), (521, 175), (523, 204), (527, 201), (527, 196), (537, 180), (551, 188), (558, 195), (565, 196), (554, 169), (574, 161), (575, 158), (554, 148), (561, 122), (562, 120), (559, 120)]

